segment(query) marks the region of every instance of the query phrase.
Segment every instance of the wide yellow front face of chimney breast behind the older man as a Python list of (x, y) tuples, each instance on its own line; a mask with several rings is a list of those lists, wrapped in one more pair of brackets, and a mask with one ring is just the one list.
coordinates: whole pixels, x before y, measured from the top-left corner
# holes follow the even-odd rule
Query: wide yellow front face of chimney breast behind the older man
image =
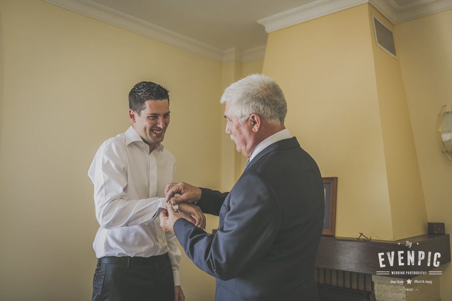
[(368, 5), (270, 33), (263, 72), (288, 102), (286, 126), (338, 177), (336, 236), (393, 239)]

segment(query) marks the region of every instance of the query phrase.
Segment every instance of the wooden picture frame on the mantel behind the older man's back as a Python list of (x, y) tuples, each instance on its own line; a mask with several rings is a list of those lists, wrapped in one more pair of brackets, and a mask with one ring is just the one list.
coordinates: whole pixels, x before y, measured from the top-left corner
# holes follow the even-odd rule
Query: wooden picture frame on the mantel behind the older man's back
[(336, 230), (336, 198), (337, 177), (322, 178), (325, 196), (325, 215), (323, 218), (322, 235), (334, 236)]

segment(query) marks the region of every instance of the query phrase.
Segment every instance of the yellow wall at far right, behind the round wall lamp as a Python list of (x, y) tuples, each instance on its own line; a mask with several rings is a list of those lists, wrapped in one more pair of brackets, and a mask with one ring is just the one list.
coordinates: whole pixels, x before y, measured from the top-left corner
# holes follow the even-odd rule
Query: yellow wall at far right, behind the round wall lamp
[[(452, 11), (395, 26), (428, 221), (444, 222), (446, 233), (452, 232), (452, 162), (441, 154), (436, 122), (441, 106), (452, 103), (450, 28)], [(442, 300), (452, 299), (448, 265), (440, 277)]]

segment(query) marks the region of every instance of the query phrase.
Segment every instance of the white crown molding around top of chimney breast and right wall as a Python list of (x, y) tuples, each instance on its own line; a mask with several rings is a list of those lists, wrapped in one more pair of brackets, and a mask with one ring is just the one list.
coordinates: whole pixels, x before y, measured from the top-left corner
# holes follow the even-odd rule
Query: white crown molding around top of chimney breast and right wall
[(398, 6), (393, 0), (317, 0), (310, 4), (260, 19), (257, 22), (265, 27), (267, 33), (271, 33), (364, 3), (372, 4), (394, 24), (452, 9), (450, 0), (418, 0), (404, 6)]

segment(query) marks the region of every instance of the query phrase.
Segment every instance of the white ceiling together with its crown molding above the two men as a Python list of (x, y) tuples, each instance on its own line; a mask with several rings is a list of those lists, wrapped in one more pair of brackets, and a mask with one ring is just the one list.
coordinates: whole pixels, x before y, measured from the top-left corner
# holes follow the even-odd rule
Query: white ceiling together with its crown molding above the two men
[(393, 23), (452, 9), (452, 0), (43, 1), (220, 61), (263, 57), (267, 32), (363, 3)]

